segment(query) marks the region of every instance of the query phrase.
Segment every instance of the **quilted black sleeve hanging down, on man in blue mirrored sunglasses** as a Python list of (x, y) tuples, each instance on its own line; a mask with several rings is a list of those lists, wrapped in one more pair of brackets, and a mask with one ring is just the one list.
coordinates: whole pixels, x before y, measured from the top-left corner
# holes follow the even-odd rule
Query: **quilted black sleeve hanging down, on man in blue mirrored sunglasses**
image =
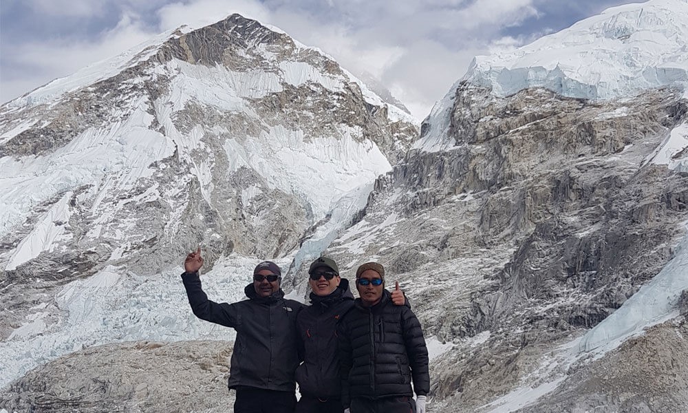
[(409, 366), (413, 377), (413, 390), (418, 396), (430, 392), (430, 372), (428, 368), (428, 349), (425, 345), (423, 330), (418, 317), (409, 308), (402, 312), (404, 344), (409, 354)]

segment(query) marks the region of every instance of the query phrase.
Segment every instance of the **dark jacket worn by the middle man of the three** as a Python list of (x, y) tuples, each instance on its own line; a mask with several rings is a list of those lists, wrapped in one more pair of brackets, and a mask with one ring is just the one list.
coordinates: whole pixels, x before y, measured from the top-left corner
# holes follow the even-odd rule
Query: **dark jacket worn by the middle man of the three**
[(319, 399), (339, 399), (336, 324), (354, 306), (349, 281), (341, 279), (336, 290), (327, 297), (310, 293), (310, 302), (311, 306), (303, 308), (297, 317), (299, 338), (303, 343), (303, 363), (297, 368), (299, 392)]

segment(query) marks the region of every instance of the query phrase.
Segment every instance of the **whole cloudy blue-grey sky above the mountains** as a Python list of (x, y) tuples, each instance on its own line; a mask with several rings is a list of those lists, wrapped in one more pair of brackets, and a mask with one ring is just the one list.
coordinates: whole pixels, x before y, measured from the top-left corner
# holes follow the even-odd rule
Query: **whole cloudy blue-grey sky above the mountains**
[(367, 72), (422, 119), (476, 54), (628, 0), (1, 0), (0, 102), (149, 37), (238, 12)]

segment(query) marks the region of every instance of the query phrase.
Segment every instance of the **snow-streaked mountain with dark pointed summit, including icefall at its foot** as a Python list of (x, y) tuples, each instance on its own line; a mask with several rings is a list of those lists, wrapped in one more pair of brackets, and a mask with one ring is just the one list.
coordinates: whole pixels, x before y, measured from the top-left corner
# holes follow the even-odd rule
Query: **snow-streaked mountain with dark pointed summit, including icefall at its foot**
[(239, 15), (3, 105), (0, 386), (98, 344), (231, 338), (189, 314), (187, 251), (240, 299), (257, 260), (287, 269), (353, 220), (417, 136), (330, 57)]

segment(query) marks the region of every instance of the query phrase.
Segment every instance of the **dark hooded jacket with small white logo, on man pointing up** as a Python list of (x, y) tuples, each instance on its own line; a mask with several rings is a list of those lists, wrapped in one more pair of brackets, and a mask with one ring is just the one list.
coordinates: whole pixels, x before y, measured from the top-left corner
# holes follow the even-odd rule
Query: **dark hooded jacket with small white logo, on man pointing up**
[(284, 299), (282, 290), (259, 297), (252, 283), (244, 289), (250, 299), (218, 304), (203, 292), (197, 273), (182, 274), (182, 281), (196, 317), (237, 330), (229, 388), (296, 389), (294, 371), (300, 361), (296, 319), (303, 304)]

